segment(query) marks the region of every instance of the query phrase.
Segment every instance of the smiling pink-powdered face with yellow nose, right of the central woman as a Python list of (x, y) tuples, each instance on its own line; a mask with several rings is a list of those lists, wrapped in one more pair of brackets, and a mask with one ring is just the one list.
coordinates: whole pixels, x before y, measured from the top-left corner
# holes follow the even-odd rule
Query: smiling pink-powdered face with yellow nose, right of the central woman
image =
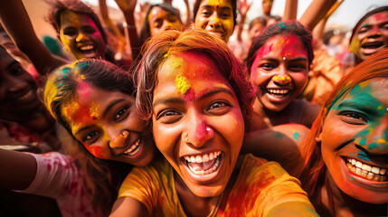
[(308, 82), (308, 50), (297, 35), (280, 33), (260, 47), (250, 70), (262, 107), (280, 111)]

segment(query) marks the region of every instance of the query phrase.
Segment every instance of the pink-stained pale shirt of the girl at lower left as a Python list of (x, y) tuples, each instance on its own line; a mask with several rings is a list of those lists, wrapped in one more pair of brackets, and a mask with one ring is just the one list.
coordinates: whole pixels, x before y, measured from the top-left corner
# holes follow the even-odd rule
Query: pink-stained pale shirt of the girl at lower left
[[(31, 153), (29, 153), (31, 154)], [(54, 198), (62, 216), (107, 216), (91, 204), (83, 178), (71, 156), (58, 152), (31, 154), (37, 162), (37, 171), (32, 184), (22, 193), (33, 193)]]

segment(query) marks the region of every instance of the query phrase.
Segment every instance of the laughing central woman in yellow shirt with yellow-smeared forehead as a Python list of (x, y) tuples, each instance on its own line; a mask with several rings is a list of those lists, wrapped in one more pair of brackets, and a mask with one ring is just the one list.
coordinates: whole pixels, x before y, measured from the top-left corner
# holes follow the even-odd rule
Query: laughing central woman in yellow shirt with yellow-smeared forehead
[(198, 30), (159, 34), (135, 78), (166, 159), (132, 170), (112, 216), (315, 215), (279, 164), (239, 155), (253, 93), (226, 43)]

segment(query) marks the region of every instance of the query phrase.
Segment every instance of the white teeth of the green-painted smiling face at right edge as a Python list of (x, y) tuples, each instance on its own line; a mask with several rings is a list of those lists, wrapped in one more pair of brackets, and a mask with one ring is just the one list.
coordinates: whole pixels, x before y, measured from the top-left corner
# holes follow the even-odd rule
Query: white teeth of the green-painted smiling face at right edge
[(356, 161), (355, 159), (347, 158), (347, 167), (356, 175), (360, 175), (369, 180), (385, 182), (387, 179), (386, 169), (381, 169), (377, 166), (371, 166)]

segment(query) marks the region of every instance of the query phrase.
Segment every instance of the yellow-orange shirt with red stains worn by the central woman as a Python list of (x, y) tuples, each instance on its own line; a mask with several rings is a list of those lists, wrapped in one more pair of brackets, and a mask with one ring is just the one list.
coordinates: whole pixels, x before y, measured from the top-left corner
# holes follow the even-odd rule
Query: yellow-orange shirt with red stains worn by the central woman
[[(247, 155), (217, 216), (265, 216), (282, 203), (302, 204), (303, 216), (317, 216), (299, 184), (278, 163)], [(135, 167), (118, 191), (123, 196), (143, 203), (151, 216), (186, 216), (175, 191), (174, 169), (166, 160)]]

